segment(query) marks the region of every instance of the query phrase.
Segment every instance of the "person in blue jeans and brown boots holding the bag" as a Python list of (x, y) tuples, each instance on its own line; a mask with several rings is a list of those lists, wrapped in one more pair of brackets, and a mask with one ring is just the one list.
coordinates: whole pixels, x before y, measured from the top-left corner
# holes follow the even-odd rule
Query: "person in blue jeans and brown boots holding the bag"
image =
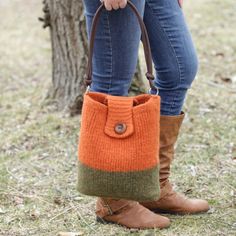
[[(126, 96), (136, 69), (140, 28), (127, 0), (103, 0), (98, 23), (94, 57), (93, 83), (90, 91)], [(204, 200), (188, 199), (176, 193), (169, 182), (187, 90), (197, 72), (197, 56), (181, 10), (182, 0), (132, 0), (146, 25), (154, 66), (155, 85), (161, 96), (160, 185), (158, 201), (138, 203), (125, 199), (97, 200), (96, 214), (101, 222), (113, 222), (130, 228), (165, 228), (167, 217), (153, 213), (191, 214), (206, 212)], [(87, 32), (99, 0), (84, 0)], [(154, 93), (155, 91), (150, 91)]]

